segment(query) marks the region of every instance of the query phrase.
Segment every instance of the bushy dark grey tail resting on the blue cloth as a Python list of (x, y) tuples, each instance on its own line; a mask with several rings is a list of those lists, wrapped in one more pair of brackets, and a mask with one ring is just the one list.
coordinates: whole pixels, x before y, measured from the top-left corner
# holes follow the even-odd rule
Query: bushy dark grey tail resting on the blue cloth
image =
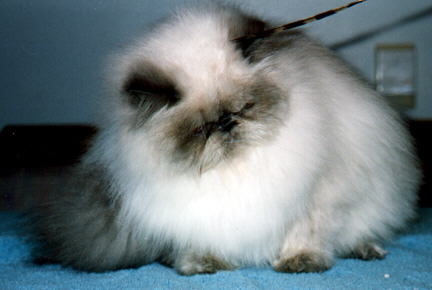
[(35, 250), (35, 262), (101, 272), (154, 261), (159, 249), (151, 239), (139, 245), (127, 226), (116, 222), (121, 201), (108, 197), (118, 189), (107, 173), (98, 166), (78, 167), (74, 173), (65, 185), (67, 194), (36, 210), (33, 222), (43, 245)]

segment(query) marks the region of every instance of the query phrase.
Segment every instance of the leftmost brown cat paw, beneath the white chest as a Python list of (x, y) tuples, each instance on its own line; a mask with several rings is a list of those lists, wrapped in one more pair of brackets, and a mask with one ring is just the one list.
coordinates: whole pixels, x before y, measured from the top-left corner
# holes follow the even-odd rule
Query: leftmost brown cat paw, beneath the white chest
[(187, 276), (214, 274), (217, 271), (234, 269), (232, 265), (213, 255), (200, 256), (194, 253), (179, 257), (174, 264), (174, 268), (179, 274)]

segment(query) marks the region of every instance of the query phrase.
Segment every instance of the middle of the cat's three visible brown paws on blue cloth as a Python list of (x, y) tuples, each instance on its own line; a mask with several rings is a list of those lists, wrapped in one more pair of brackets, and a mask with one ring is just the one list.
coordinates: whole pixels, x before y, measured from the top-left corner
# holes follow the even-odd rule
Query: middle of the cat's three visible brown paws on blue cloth
[(333, 260), (324, 254), (304, 251), (288, 258), (281, 257), (273, 263), (278, 272), (324, 272), (331, 268)]

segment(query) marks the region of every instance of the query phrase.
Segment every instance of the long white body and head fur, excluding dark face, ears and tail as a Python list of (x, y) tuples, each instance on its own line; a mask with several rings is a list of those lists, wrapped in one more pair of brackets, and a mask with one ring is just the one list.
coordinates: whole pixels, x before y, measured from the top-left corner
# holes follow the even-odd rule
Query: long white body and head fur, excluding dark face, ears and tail
[(170, 144), (160, 132), (171, 111), (131, 131), (130, 108), (116, 104), (87, 162), (102, 160), (122, 188), (117, 222), (143, 241), (174, 240), (234, 265), (274, 263), (302, 249), (333, 257), (389, 238), (413, 215), (419, 179), (396, 114), (307, 39), (247, 63), (227, 39), (227, 17), (235, 13), (178, 14), (117, 60), (113, 87), (146, 60), (178, 80), (182, 106), (206, 106), (261, 74), (285, 94), (283, 125), (274, 139), (196, 175), (164, 155)]

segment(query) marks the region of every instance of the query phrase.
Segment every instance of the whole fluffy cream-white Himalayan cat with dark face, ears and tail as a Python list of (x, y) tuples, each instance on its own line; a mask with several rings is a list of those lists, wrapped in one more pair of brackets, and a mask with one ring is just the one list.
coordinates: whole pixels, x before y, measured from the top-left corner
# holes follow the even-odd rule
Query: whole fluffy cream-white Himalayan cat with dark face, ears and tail
[(155, 261), (183, 275), (321, 272), (381, 259), (420, 172), (397, 114), (299, 31), (207, 4), (175, 13), (110, 71), (106, 121), (36, 218), (40, 261)]

